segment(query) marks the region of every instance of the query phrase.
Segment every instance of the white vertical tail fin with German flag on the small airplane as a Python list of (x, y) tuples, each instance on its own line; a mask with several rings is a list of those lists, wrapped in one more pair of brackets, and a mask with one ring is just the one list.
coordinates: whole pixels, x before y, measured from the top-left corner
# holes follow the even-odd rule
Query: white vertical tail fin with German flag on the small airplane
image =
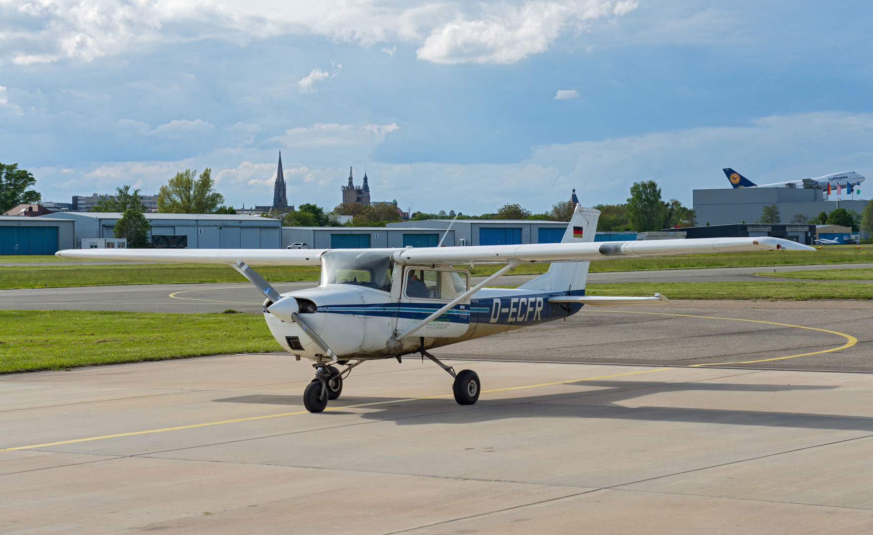
[[(564, 239), (560, 243), (586, 243), (595, 241), (597, 219), (600, 210), (583, 208), (576, 204), (573, 217), (567, 225)], [(584, 295), (585, 280), (588, 278), (588, 262), (553, 262), (548, 271), (519, 288), (529, 290), (558, 290), (570, 295)]]

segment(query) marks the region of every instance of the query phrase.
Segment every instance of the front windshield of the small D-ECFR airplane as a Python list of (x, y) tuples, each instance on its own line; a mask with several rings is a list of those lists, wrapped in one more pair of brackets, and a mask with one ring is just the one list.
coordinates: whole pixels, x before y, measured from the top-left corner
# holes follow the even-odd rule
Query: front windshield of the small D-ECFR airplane
[(394, 262), (384, 252), (327, 251), (321, 255), (320, 285), (366, 286), (391, 292)]

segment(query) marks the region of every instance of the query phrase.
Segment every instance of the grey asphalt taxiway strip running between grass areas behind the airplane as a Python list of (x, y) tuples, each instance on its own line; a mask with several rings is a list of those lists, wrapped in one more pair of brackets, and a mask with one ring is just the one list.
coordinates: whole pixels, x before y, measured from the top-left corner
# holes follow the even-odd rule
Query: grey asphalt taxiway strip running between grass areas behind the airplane
[[(775, 268), (779, 271), (826, 270), (873, 267), (873, 264), (797, 265)], [(588, 274), (588, 283), (623, 282), (715, 282), (762, 281), (785, 282), (784, 278), (762, 278), (753, 273), (774, 268), (711, 268), (700, 270), (612, 271)], [(521, 285), (535, 275), (506, 275), (494, 285)], [(473, 278), (476, 281), (481, 278)], [(794, 280), (794, 279), (791, 279)], [(272, 283), (279, 292), (302, 290), (315, 282)], [(667, 296), (670, 297), (670, 296)], [(83, 286), (73, 288), (29, 288), (0, 290), (0, 309), (10, 310), (103, 310), (133, 312), (223, 312), (228, 308), (240, 312), (258, 312), (263, 296), (249, 283)]]

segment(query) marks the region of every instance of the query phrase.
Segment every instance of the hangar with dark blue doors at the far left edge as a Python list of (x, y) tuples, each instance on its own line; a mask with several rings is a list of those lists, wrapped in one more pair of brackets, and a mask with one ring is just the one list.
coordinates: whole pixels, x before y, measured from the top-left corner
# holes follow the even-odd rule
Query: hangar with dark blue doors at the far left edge
[(0, 216), (0, 255), (53, 255), (75, 245), (70, 218)]

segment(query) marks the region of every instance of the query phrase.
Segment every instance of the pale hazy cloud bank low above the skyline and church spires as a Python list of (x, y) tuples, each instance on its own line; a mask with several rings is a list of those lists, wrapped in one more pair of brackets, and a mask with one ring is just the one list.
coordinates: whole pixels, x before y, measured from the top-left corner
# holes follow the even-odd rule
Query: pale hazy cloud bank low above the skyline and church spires
[[(356, 179), (368, 165), (376, 200), (427, 212), (455, 209), (481, 214), (506, 202), (533, 211), (551, 208), (576, 192), (588, 206), (624, 202), (633, 182), (653, 179), (664, 198), (691, 204), (693, 189), (727, 188), (722, 168), (753, 182), (779, 182), (852, 170), (873, 175), (873, 114), (802, 113), (753, 120), (739, 127), (696, 127), (669, 132), (534, 147), (525, 161), (500, 164), (419, 162), (387, 164), (372, 154), (394, 124), (316, 124), (292, 128), (265, 141), (281, 143), (289, 198), (331, 208), (354, 165)], [(339, 149), (339, 150), (338, 150)], [(338, 157), (337, 154), (341, 154)], [(72, 194), (109, 193), (132, 184), (155, 193), (185, 168), (210, 167), (219, 192), (239, 206), (269, 203), (276, 175), (274, 148), (219, 148), (196, 158), (166, 162), (94, 163), (75, 168), (31, 168), (48, 200)], [(264, 163), (253, 163), (253, 162)], [(242, 163), (240, 163), (242, 162)], [(497, 193), (495, 193), (497, 192)]]

